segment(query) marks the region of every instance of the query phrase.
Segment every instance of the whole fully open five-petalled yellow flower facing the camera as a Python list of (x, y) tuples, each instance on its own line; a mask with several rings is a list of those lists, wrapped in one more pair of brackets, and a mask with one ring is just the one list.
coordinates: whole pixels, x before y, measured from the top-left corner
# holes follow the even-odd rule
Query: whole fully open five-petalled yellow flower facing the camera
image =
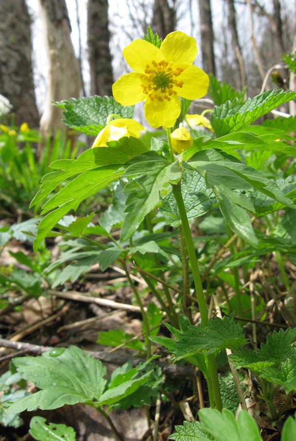
[(145, 117), (152, 127), (172, 127), (181, 112), (179, 97), (204, 97), (207, 74), (192, 63), (196, 41), (181, 31), (168, 34), (160, 48), (134, 40), (123, 56), (134, 72), (122, 75), (113, 85), (113, 96), (122, 105), (145, 101)]

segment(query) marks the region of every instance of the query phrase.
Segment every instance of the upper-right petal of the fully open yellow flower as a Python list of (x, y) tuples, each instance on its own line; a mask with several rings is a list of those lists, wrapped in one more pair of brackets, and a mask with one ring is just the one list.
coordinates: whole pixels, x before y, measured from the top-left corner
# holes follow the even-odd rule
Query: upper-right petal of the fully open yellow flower
[(181, 31), (168, 34), (163, 40), (160, 50), (166, 61), (192, 64), (197, 55), (196, 41)]

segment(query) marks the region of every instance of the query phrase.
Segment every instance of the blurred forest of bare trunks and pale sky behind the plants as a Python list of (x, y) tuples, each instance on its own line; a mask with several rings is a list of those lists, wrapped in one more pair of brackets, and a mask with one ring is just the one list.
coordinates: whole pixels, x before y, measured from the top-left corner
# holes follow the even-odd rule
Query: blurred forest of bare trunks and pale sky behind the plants
[(291, 0), (0, 0), (0, 16), (0, 94), (14, 124), (42, 133), (65, 130), (52, 100), (112, 94), (122, 49), (147, 26), (195, 37), (197, 65), (250, 97), (295, 89), (281, 58), (295, 51)]

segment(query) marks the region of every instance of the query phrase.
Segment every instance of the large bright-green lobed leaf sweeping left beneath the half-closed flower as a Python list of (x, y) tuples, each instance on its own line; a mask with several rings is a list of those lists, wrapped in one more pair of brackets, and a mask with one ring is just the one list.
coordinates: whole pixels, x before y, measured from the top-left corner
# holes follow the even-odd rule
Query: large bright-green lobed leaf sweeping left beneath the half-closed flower
[(42, 214), (49, 212), (39, 223), (34, 242), (36, 251), (49, 231), (70, 210), (76, 210), (88, 197), (107, 187), (123, 174), (122, 166), (144, 151), (147, 147), (136, 138), (121, 138), (113, 142), (113, 147), (91, 148), (76, 160), (58, 160), (51, 164), (56, 172), (44, 176), (40, 191), (34, 197), (31, 206), (41, 202), (63, 181), (70, 180), (61, 190), (50, 197), (43, 205)]

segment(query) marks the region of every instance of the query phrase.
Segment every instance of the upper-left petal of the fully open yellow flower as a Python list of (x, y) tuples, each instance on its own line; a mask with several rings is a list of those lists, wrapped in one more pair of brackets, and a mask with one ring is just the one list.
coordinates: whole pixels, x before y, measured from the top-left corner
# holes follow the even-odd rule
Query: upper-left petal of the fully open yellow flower
[(134, 40), (123, 49), (122, 53), (127, 64), (135, 72), (143, 73), (146, 65), (150, 64), (152, 60), (155, 60), (157, 63), (163, 60), (163, 55), (159, 48), (145, 40)]

